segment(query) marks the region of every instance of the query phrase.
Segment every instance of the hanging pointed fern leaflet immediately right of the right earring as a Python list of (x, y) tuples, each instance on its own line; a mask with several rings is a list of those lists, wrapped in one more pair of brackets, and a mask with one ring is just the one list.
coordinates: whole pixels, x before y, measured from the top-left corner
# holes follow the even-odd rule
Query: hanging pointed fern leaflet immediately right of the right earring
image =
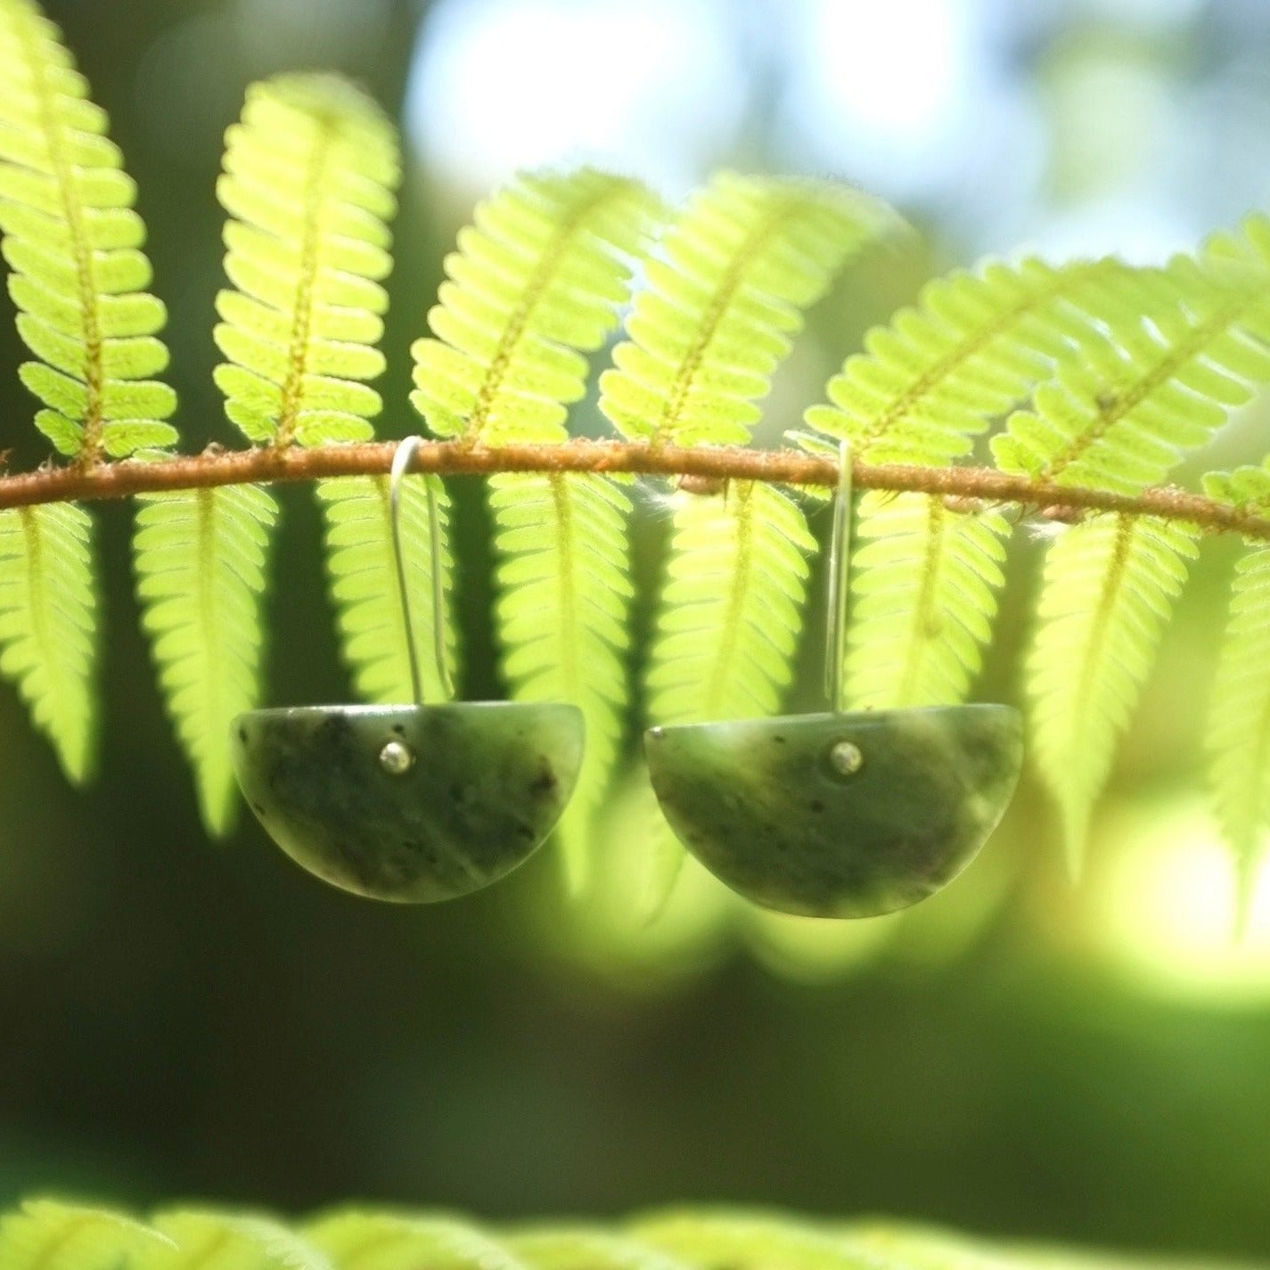
[(1154, 517), (1100, 516), (1049, 549), (1027, 692), (1038, 767), (1062, 812), (1073, 871), (1198, 537)]

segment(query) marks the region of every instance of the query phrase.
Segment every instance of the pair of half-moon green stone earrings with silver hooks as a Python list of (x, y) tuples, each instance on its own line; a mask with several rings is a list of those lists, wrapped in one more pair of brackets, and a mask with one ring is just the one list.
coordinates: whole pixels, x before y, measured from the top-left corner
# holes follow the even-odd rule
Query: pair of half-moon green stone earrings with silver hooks
[[(582, 766), (572, 705), (424, 705), (399, 527), (422, 438), (396, 451), (390, 514), (414, 704), (254, 710), (234, 721), (239, 785), (274, 842), (345, 890), (428, 903), (498, 881), (546, 839)], [(441, 547), (429, 485), (433, 634), (447, 682)], [(847, 712), (842, 701), (851, 456), (829, 561), (826, 714), (653, 728), (653, 787), (721, 881), (780, 912), (871, 917), (951, 880), (1019, 777), (1019, 714), (977, 705)]]

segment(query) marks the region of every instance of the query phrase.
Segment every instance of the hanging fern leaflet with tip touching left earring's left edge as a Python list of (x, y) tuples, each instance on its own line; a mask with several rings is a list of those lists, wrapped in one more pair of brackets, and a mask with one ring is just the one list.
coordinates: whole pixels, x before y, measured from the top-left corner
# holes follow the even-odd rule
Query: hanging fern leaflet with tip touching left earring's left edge
[(260, 696), (260, 593), (276, 519), (257, 485), (151, 495), (137, 512), (141, 625), (216, 837), (237, 808), (230, 723)]

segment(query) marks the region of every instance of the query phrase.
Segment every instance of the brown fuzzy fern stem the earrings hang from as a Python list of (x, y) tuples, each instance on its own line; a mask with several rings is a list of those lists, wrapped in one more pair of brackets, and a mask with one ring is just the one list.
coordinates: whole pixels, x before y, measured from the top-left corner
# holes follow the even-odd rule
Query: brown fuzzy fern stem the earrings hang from
[[(210, 448), (202, 455), (165, 462), (126, 460), (95, 467), (41, 467), (0, 476), (0, 509), (130, 498), (161, 490), (211, 489), (217, 485), (318, 480), (328, 476), (377, 476), (389, 471), (396, 443), (324, 446), (316, 450)], [(777, 485), (832, 489), (837, 460), (796, 450), (744, 450), (729, 446), (632, 444), (620, 441), (569, 441), (564, 444), (471, 447), (437, 441), (422, 446), (414, 471), (442, 476), (493, 472), (625, 472), (640, 476), (687, 476), (707, 488), (720, 481), (757, 480)], [(904, 464), (855, 465), (857, 489), (912, 490), (946, 498), (954, 512), (1012, 504), (1043, 519), (1072, 521), (1085, 512), (1121, 512), (1185, 521), (1212, 533), (1241, 533), (1270, 541), (1270, 517), (1229, 507), (1199, 494), (1163, 486), (1129, 497), (1078, 485), (1034, 481), (991, 467), (922, 467)]]

